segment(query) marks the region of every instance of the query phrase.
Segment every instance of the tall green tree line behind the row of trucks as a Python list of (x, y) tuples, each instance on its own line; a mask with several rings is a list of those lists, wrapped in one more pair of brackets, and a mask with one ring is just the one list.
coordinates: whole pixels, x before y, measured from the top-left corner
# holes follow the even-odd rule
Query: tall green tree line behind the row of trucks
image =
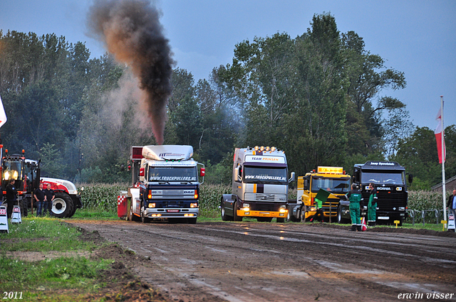
[[(207, 79), (175, 68), (164, 144), (189, 144), (209, 183), (231, 181), (234, 148), (276, 146), (298, 175), (316, 166), (398, 161), (413, 187), (441, 181), (432, 129), (414, 126), (405, 104), (383, 95), (406, 86), (353, 31), (316, 14), (296, 38), (287, 33), (234, 45), (232, 63)], [(55, 34), (0, 31), (0, 96), (11, 153), (41, 159), (43, 176), (76, 182), (128, 181), (130, 146), (155, 144), (127, 67), (106, 53)], [(445, 129), (447, 176), (456, 175), (456, 126)]]

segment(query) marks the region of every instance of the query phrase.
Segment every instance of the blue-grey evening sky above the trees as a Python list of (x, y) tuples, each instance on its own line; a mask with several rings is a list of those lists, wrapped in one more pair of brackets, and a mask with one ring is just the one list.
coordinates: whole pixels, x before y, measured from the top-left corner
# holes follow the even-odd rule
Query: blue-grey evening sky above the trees
[[(86, 42), (92, 57), (105, 50), (86, 33), (89, 0), (0, 0), (0, 29), (56, 33), (71, 43)], [(355, 31), (366, 50), (405, 72), (407, 87), (382, 91), (407, 104), (416, 126), (435, 129), (440, 95), (445, 126), (456, 124), (455, 0), (161, 0), (165, 36), (179, 68), (207, 78), (212, 68), (232, 62), (234, 45), (254, 36), (288, 33), (310, 27), (314, 14), (330, 12), (338, 30)]]

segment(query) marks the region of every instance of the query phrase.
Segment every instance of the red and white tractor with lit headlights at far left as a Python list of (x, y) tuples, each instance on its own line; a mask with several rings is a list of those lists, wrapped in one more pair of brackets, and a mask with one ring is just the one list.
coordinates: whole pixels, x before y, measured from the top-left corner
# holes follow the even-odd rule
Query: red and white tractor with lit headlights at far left
[[(0, 145), (0, 150), (3, 145)], [(1, 157), (1, 188), (6, 194), (6, 185), (10, 179), (14, 179), (16, 190), (18, 190), (18, 205), (21, 207), (23, 216), (28, 215), (28, 210), (33, 210), (33, 192), (38, 188), (39, 183), (43, 183), (43, 188), (51, 185), (55, 193), (52, 202), (52, 215), (59, 218), (71, 217), (76, 209), (83, 207), (81, 195), (78, 195), (76, 185), (68, 180), (56, 178), (40, 178), (40, 161), (33, 161), (24, 157), (22, 154), (12, 154), (5, 150), (5, 155)], [(1, 154), (1, 151), (0, 151)]]

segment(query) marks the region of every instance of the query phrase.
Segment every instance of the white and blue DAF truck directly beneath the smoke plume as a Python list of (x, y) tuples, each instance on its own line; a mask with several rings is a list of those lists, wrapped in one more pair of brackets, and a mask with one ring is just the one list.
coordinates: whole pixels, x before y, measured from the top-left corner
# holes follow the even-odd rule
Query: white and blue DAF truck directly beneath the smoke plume
[(197, 163), (192, 155), (192, 146), (133, 146), (130, 158), (133, 185), (125, 192), (125, 198), (119, 196), (130, 203), (126, 211), (119, 212), (119, 217), (195, 224), (204, 165)]

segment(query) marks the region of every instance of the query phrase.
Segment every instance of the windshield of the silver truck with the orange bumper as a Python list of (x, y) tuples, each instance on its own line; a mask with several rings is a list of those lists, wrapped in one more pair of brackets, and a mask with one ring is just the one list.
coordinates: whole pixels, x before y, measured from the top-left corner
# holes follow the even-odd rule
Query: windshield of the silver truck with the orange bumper
[(279, 183), (286, 185), (286, 168), (251, 167), (244, 166), (244, 180), (246, 183)]

